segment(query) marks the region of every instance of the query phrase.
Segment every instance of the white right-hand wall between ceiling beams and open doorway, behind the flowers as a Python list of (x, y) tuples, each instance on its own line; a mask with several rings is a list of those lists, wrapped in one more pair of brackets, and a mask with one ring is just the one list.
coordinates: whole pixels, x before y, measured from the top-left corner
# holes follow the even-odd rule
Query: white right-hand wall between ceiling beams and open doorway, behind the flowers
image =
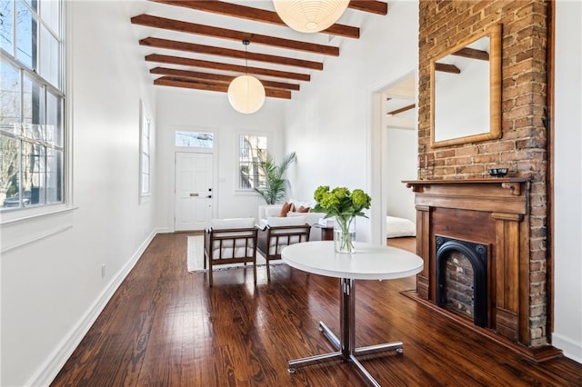
[(373, 171), (380, 155), (371, 152), (383, 146), (382, 120), (372, 116), (376, 93), (417, 66), (418, 3), (390, 2), (388, 8), (387, 16), (366, 18), (359, 40), (343, 41), (340, 59), (325, 58), (326, 71), (302, 86), (286, 110), (286, 152), (298, 158), (288, 173), (293, 197), (313, 198), (319, 185), (366, 190), (370, 219), (356, 221), (356, 238), (363, 241), (386, 219), (376, 189), (381, 174)]

